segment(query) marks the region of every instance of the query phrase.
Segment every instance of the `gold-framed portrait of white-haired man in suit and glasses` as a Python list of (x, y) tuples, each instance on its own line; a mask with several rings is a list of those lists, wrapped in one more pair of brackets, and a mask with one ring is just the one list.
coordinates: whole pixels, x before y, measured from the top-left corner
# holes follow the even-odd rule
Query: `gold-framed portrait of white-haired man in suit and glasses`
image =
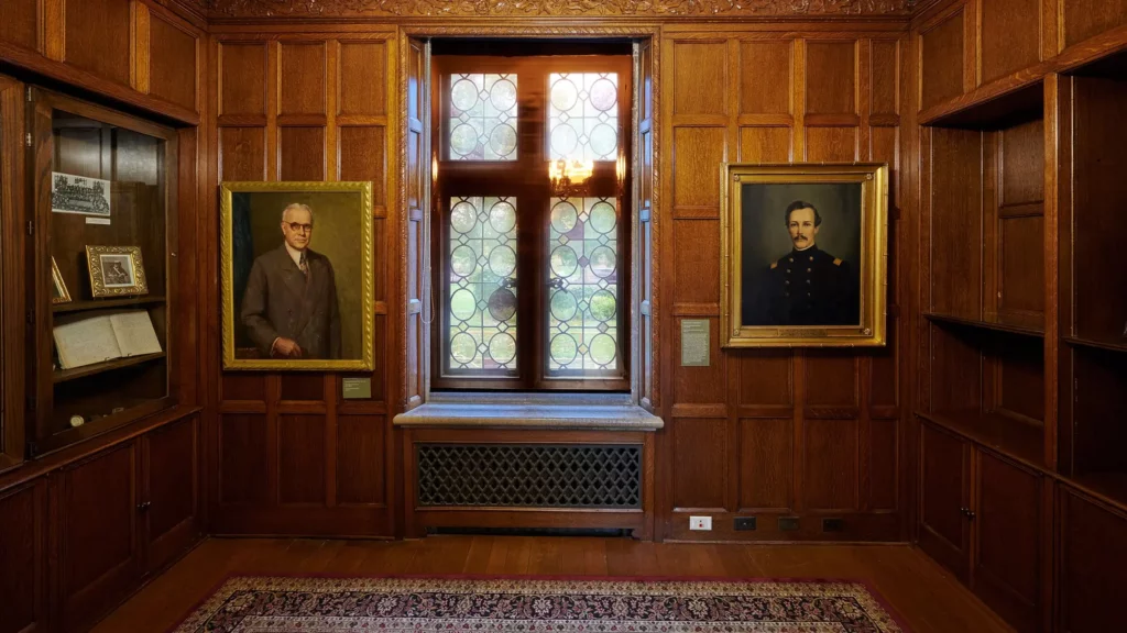
[[(370, 363), (370, 189), (229, 185), (256, 190), (224, 191), (225, 366), (345, 369)], [(334, 184), (349, 185), (369, 184)]]

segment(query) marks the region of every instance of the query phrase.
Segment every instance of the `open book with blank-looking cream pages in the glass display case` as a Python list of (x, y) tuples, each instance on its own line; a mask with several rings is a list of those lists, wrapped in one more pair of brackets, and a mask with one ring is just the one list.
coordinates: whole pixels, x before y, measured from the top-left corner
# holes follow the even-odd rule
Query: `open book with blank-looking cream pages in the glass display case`
[(55, 326), (53, 333), (63, 369), (163, 351), (144, 310), (78, 318)]

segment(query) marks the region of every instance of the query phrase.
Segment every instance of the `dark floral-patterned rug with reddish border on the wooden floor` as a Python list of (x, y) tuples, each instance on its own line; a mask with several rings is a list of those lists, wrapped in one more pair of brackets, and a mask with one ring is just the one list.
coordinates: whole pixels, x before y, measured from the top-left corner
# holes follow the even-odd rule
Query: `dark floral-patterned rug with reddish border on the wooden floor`
[(864, 585), (833, 581), (228, 580), (176, 633), (887, 633)]

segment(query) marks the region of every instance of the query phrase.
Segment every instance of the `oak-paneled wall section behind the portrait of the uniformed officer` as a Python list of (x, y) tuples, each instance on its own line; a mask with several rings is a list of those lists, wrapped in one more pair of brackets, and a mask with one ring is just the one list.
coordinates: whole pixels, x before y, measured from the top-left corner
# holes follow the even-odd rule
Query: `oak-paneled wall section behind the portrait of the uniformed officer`
[[(665, 536), (897, 540), (907, 491), (902, 427), (907, 279), (899, 217), (900, 102), (906, 38), (897, 29), (747, 27), (663, 33), (662, 357), (659, 436)], [(872, 350), (719, 348), (719, 169), (724, 161), (887, 162), (890, 177), (889, 345)], [(708, 367), (682, 367), (681, 322), (707, 319)], [(667, 337), (667, 338), (666, 338)], [(906, 472), (906, 471), (905, 471)], [(757, 515), (756, 532), (731, 518)], [(797, 532), (775, 518), (798, 516)], [(841, 517), (823, 533), (819, 517)]]

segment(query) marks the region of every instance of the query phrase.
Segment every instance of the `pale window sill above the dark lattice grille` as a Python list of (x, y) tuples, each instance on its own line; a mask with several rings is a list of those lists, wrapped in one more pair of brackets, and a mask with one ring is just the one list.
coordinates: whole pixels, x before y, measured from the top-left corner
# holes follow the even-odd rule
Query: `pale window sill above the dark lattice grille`
[(614, 394), (432, 395), (426, 404), (394, 417), (399, 427), (527, 428), (655, 431), (662, 418)]

